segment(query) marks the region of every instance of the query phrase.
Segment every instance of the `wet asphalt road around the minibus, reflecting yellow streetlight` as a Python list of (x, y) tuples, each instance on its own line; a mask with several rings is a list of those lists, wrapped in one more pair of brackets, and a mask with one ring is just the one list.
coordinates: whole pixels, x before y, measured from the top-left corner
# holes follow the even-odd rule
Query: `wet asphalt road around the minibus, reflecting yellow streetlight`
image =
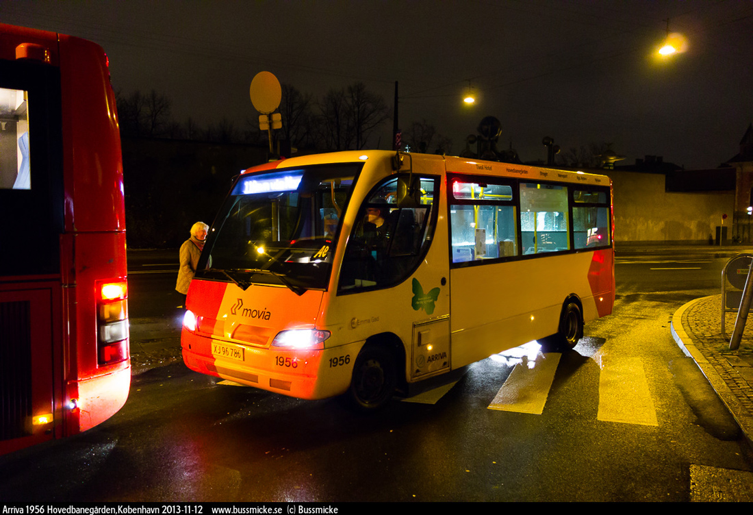
[[(489, 358), (429, 404), (395, 401), (375, 415), (221, 384), (180, 361), (154, 367), (97, 428), (0, 457), (0, 499), (718, 499), (709, 477), (750, 495), (750, 449), (669, 334), (678, 307), (717, 292), (724, 261), (619, 257), (614, 314), (587, 326), (578, 352)], [(143, 276), (131, 278), (132, 300), (170, 282)], [(536, 374), (552, 363), (541, 386)], [(518, 376), (544, 398), (541, 413), (490, 409)]]

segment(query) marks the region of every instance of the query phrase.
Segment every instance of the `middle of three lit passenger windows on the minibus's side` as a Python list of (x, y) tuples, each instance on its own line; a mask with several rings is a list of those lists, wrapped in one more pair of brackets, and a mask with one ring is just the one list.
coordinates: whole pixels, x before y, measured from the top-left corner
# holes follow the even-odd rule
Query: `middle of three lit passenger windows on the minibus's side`
[(567, 191), (552, 184), (520, 184), (523, 254), (569, 250)]

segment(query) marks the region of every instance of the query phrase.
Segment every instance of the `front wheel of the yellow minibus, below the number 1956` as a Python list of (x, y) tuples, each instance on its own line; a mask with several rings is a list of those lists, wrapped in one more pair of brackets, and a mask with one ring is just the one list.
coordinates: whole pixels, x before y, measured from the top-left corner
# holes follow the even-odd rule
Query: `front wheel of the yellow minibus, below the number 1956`
[(355, 359), (349, 390), (355, 407), (364, 411), (384, 407), (392, 399), (396, 385), (397, 370), (392, 353), (379, 346), (361, 349)]

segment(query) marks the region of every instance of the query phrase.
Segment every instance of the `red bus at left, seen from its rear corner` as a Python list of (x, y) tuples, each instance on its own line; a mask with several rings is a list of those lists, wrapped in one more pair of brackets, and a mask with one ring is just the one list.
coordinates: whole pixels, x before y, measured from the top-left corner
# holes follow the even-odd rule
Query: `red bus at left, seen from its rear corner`
[(123, 164), (107, 56), (0, 24), (0, 453), (85, 431), (130, 388)]

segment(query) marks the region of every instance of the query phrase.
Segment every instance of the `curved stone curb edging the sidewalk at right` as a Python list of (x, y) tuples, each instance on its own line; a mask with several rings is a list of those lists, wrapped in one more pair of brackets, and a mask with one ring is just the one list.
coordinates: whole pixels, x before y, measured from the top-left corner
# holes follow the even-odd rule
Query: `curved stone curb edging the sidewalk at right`
[[(710, 295), (709, 297), (714, 296)], [(727, 410), (732, 414), (737, 425), (739, 425), (740, 430), (745, 435), (745, 439), (748, 440), (748, 445), (753, 448), (753, 414), (748, 413), (748, 410), (742, 406), (739, 399), (727, 385), (727, 382), (725, 382), (719, 375), (713, 364), (703, 355), (703, 352), (700, 351), (696, 343), (682, 327), (682, 316), (684, 315), (684, 312), (691, 309), (696, 303), (708, 299), (709, 297), (701, 297), (700, 299), (691, 300), (675, 312), (675, 315), (672, 316), (672, 323), (670, 324), (672, 337), (675, 339), (675, 342), (678, 344), (684, 355), (688, 358), (693, 358), (696, 362), (703, 375), (706, 376), (706, 379), (711, 383), (714, 391), (727, 407)], [(676, 325), (675, 321), (678, 321)]]

